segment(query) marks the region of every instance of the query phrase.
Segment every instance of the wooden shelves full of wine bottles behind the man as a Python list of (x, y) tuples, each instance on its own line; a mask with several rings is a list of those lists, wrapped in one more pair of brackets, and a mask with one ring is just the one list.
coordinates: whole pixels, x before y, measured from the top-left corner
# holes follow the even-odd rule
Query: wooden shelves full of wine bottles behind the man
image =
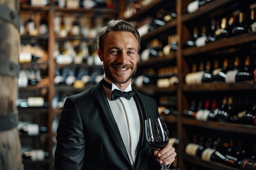
[(139, 30), (132, 85), (157, 100), (177, 152), (173, 166), (256, 165), (255, 0), (73, 1), (20, 1), (16, 105), (26, 169), (53, 169), (63, 102), (102, 79), (95, 38), (112, 18)]

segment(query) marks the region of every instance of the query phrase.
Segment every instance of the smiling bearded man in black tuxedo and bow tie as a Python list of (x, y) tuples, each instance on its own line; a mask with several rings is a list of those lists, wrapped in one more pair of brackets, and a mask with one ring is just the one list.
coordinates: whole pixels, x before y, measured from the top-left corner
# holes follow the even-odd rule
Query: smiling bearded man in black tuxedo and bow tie
[[(139, 32), (130, 22), (110, 20), (97, 43), (105, 74), (94, 87), (66, 99), (55, 170), (160, 170), (160, 163), (172, 163), (177, 154), (171, 144), (154, 151), (146, 142), (144, 120), (159, 116), (157, 103), (137, 91), (120, 97), (132, 90)], [(113, 95), (116, 89), (123, 91), (120, 98)]]

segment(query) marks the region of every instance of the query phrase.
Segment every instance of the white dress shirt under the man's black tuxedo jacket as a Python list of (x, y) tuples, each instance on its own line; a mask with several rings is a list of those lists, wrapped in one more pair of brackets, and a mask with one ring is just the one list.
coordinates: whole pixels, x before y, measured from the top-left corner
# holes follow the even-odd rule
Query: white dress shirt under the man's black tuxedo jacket
[[(130, 100), (126, 99), (125, 97), (120, 97), (119, 99), (112, 101), (110, 97), (111, 92), (115, 89), (120, 89), (109, 79), (107, 79), (105, 75), (103, 78), (106, 80), (106, 82), (112, 84), (111, 90), (105, 86), (103, 86), (103, 89), (108, 98), (108, 104), (119, 128), (124, 146), (126, 147), (130, 163), (134, 167), (134, 162), (137, 155), (137, 144), (139, 142), (139, 135), (141, 131), (139, 112), (136, 102), (133, 97)], [(130, 83), (130, 85), (124, 91), (128, 92), (131, 90), (132, 84)]]

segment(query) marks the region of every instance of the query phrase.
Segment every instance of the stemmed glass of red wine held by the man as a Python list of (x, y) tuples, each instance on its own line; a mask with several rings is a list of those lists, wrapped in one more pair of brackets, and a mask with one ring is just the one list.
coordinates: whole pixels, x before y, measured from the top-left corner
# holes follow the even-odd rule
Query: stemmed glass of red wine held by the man
[[(157, 150), (164, 148), (169, 142), (169, 132), (162, 117), (145, 120), (146, 140), (148, 144)], [(170, 164), (171, 165), (171, 164)], [(171, 170), (170, 165), (161, 163), (161, 170)]]

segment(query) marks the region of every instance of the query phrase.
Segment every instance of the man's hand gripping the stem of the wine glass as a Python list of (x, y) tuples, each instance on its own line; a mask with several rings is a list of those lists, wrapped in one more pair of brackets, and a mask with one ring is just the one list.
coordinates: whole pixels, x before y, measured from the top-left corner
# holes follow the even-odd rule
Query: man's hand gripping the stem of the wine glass
[(164, 163), (165, 165), (169, 165), (175, 161), (175, 157), (177, 153), (175, 152), (175, 148), (171, 144), (168, 144), (166, 147), (161, 150), (155, 150), (154, 155), (157, 157), (157, 161), (159, 163)]

